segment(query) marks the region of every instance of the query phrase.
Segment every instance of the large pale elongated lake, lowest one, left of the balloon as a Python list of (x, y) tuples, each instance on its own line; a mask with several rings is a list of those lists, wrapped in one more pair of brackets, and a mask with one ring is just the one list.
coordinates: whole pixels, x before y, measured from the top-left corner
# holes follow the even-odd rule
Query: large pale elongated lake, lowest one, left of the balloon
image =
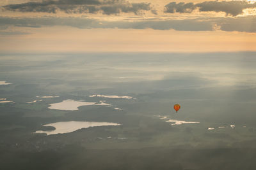
[(68, 132), (74, 132), (82, 128), (96, 127), (96, 126), (106, 126), (106, 125), (120, 125), (111, 122), (79, 122), (79, 121), (69, 121), (69, 122), (56, 122), (53, 124), (46, 124), (44, 126), (55, 127), (53, 131), (36, 131), (35, 133), (46, 133), (50, 134), (63, 134)]

